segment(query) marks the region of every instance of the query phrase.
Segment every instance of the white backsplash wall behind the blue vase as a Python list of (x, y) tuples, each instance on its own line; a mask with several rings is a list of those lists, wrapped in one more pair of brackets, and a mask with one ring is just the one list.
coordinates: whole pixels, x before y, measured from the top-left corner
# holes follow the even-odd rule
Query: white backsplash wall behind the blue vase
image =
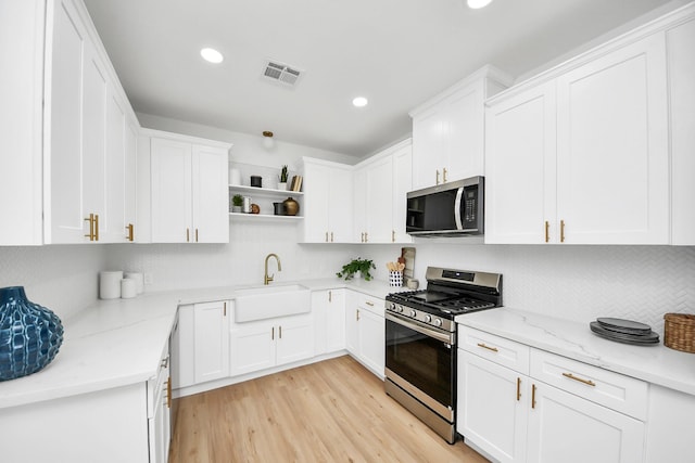
[(28, 299), (66, 320), (97, 300), (102, 245), (0, 246), (0, 287), (24, 286)]

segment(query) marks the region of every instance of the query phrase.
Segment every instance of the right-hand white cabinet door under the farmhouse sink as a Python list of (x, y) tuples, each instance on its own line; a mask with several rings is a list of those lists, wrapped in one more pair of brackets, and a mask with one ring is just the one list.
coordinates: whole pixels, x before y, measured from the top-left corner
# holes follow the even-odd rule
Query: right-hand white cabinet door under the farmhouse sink
[(282, 319), (277, 331), (276, 365), (314, 357), (314, 319), (311, 314)]

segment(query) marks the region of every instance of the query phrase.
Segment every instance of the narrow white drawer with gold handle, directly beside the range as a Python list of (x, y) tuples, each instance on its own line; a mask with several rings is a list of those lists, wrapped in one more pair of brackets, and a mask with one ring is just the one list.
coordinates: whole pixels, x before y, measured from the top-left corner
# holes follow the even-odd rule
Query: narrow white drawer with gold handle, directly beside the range
[(529, 346), (468, 326), (458, 326), (458, 348), (529, 374)]

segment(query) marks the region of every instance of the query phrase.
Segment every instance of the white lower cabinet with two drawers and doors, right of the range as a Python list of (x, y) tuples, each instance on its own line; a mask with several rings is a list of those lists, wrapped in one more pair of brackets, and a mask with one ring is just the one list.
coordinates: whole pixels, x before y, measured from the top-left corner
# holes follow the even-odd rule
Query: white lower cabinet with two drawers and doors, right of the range
[(643, 461), (647, 384), (459, 327), (458, 422), (500, 462)]

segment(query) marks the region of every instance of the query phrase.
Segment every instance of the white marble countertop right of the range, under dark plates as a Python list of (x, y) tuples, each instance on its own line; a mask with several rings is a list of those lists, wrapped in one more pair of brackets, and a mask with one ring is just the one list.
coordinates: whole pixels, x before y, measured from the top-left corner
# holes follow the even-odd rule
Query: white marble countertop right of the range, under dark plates
[(498, 308), (456, 317), (456, 322), (531, 347), (628, 376), (695, 395), (695, 353), (664, 346), (634, 346), (604, 339), (589, 323), (525, 310)]

